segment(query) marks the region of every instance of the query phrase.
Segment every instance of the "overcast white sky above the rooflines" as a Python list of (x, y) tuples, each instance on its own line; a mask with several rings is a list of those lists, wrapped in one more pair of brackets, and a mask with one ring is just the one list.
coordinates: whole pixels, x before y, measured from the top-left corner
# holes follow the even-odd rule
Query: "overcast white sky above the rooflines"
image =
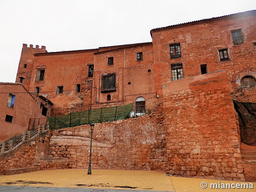
[(23, 43), (56, 52), (151, 42), (153, 28), (254, 9), (255, 0), (1, 0), (0, 82), (15, 82)]

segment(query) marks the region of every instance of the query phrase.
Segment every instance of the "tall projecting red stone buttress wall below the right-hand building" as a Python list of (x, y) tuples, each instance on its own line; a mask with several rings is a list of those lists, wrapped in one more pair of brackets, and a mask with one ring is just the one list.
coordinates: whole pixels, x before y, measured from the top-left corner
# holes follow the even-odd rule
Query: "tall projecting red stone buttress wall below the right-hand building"
[[(180, 88), (180, 84), (186, 88)], [(244, 180), (228, 85), (225, 71), (164, 84), (164, 127), (170, 174)]]

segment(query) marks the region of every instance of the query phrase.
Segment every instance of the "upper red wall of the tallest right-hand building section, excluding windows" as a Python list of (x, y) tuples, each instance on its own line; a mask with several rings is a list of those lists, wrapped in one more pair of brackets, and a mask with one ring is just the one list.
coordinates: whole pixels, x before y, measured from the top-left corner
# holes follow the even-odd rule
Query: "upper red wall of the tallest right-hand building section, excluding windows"
[[(242, 44), (233, 44), (231, 30), (240, 29)], [(172, 79), (171, 64), (182, 62), (184, 77), (201, 75), (201, 64), (207, 72), (226, 70), (231, 92), (241, 86), (237, 79), (256, 77), (255, 12), (241, 13), (152, 31), (155, 90), (161, 93), (162, 84)], [(180, 43), (181, 58), (170, 59), (172, 43)], [(219, 49), (228, 49), (230, 60), (220, 61)]]

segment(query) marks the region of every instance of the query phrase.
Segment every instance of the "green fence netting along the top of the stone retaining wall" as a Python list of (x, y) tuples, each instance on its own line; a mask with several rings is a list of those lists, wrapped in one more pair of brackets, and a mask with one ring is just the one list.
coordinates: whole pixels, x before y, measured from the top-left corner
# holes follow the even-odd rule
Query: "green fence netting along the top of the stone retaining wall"
[(133, 103), (124, 106), (71, 112), (68, 115), (61, 117), (48, 117), (48, 122), (50, 123), (50, 129), (53, 130), (84, 124), (116, 121), (117, 119), (128, 118), (131, 114), (132, 108)]

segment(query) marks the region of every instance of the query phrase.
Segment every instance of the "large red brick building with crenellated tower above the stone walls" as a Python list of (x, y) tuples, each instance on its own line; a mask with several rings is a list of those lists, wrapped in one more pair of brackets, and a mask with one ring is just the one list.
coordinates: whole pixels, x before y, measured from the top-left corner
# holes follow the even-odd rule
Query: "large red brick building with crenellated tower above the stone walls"
[(23, 44), (16, 83), (52, 100), (57, 116), (137, 98), (146, 112), (162, 102), (165, 82), (225, 70), (234, 99), (253, 102), (255, 28), (252, 10), (152, 29), (152, 43), (62, 52)]

